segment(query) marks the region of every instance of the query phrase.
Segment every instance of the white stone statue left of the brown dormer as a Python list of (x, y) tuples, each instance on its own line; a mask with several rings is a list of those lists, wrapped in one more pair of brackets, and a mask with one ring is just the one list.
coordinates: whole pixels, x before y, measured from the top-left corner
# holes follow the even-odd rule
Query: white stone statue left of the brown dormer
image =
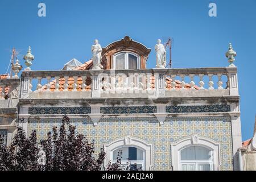
[(92, 69), (102, 69), (101, 65), (101, 45), (98, 43), (98, 40), (94, 40), (94, 45), (92, 46), (92, 60), (93, 60), (93, 68)]

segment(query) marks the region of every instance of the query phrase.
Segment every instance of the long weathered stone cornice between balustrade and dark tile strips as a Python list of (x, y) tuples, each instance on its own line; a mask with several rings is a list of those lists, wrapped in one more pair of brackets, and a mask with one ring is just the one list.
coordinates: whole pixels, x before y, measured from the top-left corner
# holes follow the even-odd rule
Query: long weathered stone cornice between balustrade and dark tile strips
[(72, 99), (20, 99), (20, 105), (37, 106), (90, 106), (100, 104), (102, 106), (121, 105), (238, 105), (239, 96), (222, 97), (162, 97), (156, 99), (146, 98), (72, 98)]

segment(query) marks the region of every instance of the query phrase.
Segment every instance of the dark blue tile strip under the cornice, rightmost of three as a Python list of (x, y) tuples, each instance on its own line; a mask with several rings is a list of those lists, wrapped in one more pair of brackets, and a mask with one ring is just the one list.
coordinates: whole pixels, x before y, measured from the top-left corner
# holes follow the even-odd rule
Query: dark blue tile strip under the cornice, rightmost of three
[(218, 113), (229, 111), (230, 105), (166, 106), (167, 113)]

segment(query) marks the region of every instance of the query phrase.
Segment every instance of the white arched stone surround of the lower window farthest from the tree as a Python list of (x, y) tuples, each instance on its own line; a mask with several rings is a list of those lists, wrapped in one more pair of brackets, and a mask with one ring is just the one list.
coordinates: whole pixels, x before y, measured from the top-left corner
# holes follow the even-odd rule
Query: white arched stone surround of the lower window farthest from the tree
[(182, 169), (180, 151), (190, 146), (201, 146), (212, 151), (212, 170), (218, 171), (220, 169), (220, 144), (209, 138), (192, 135), (191, 137), (181, 139), (178, 142), (171, 144), (171, 166), (174, 171)]

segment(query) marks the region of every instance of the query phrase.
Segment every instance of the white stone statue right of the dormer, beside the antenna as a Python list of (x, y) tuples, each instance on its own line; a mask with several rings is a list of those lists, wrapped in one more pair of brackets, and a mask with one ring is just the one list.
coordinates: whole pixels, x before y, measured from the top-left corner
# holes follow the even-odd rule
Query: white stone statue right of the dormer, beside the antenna
[(161, 40), (158, 39), (158, 43), (155, 45), (156, 52), (156, 68), (166, 68), (166, 49)]

